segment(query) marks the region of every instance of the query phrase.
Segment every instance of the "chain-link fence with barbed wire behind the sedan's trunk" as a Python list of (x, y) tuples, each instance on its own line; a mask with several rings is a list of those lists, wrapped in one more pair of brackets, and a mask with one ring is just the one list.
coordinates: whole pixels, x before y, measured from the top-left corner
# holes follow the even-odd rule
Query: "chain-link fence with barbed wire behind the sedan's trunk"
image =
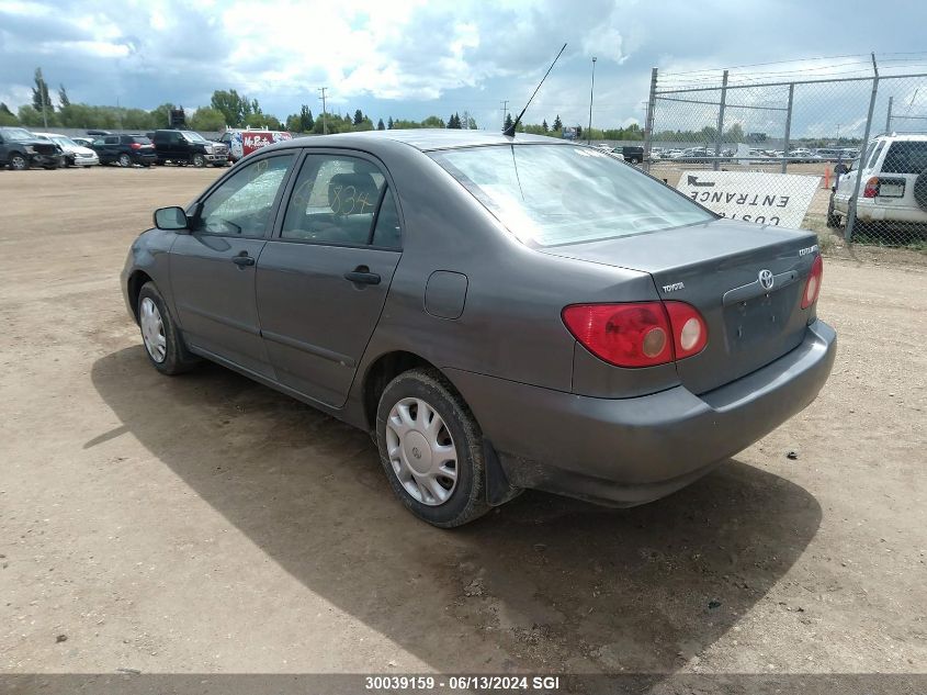
[(927, 248), (927, 72), (880, 70), (874, 56), (858, 72), (655, 68), (644, 167), (727, 217)]

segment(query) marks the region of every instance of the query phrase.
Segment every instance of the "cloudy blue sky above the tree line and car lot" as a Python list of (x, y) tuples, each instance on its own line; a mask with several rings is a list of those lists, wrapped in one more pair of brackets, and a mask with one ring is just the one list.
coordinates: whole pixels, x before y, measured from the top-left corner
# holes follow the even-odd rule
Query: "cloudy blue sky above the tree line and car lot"
[[(643, 123), (654, 66), (662, 89), (704, 86), (724, 67), (732, 83), (861, 76), (870, 52), (886, 68), (927, 72), (925, 25), (923, 0), (0, 0), (0, 101), (29, 103), (42, 67), (53, 94), (65, 85), (72, 102), (192, 110), (234, 88), (283, 120), (303, 103), (317, 114), (327, 87), (329, 111), (374, 122), (468, 111), (495, 128), (502, 100), (518, 113), (566, 42), (525, 122), (585, 127), (595, 56), (592, 124), (613, 127)], [(898, 104), (927, 114), (919, 87), (892, 83)], [(781, 108), (787, 88), (733, 94)], [(853, 82), (799, 89), (798, 134), (858, 132), (868, 94)], [(713, 109), (664, 102), (656, 127), (701, 127)], [(782, 112), (735, 107), (728, 119), (775, 131)]]

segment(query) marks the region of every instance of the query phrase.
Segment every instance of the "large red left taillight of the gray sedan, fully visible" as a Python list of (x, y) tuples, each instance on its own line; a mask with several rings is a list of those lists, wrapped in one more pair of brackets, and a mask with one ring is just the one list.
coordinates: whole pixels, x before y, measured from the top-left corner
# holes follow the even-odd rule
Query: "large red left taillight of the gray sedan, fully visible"
[(574, 304), (563, 310), (563, 322), (592, 355), (618, 367), (664, 365), (708, 343), (704, 320), (683, 302)]

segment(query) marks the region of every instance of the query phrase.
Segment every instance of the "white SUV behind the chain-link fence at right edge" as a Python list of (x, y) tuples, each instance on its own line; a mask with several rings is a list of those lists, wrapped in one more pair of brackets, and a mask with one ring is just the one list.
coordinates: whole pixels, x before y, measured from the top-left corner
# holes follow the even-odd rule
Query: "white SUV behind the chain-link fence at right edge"
[(857, 220), (927, 227), (927, 135), (893, 133), (869, 143), (853, 170), (840, 177), (830, 197), (827, 226), (846, 217), (857, 177), (862, 177)]

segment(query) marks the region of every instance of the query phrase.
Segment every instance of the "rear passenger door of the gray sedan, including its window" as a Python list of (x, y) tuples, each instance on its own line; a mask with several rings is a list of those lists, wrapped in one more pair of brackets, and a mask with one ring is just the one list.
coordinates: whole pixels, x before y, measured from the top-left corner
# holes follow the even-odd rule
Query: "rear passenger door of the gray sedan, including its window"
[(290, 188), (258, 259), (261, 332), (280, 383), (338, 407), (399, 262), (399, 211), (385, 170), (357, 153), (307, 154)]

